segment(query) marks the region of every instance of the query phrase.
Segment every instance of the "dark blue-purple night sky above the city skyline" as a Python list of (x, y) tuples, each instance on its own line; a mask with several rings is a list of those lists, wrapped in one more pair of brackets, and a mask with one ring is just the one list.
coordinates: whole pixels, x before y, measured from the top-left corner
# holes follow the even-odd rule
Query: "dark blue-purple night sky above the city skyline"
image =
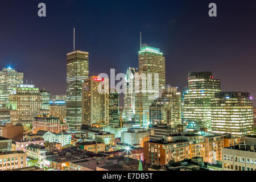
[[(38, 16), (46, 3), (47, 16)], [(217, 4), (217, 17), (208, 5)], [(66, 54), (89, 52), (90, 75), (138, 67), (142, 44), (166, 57), (167, 82), (187, 86), (188, 72), (211, 71), (223, 91), (256, 98), (256, 1), (0, 1), (0, 68), (65, 94)], [(255, 102), (255, 101), (254, 101)], [(256, 102), (255, 102), (256, 103)]]

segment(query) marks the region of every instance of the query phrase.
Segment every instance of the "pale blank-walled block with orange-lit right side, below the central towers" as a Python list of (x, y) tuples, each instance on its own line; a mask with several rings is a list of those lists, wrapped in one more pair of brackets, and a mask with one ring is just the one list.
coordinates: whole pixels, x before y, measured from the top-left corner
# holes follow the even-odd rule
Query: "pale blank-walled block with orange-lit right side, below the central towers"
[(131, 146), (143, 147), (143, 143), (149, 140), (149, 132), (143, 128), (130, 128), (121, 133), (121, 143)]

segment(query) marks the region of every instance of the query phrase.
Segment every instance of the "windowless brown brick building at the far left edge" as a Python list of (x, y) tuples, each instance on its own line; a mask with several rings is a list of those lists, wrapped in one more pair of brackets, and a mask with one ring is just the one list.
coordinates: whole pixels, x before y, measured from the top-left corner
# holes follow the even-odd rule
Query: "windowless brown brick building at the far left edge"
[(13, 125), (13, 123), (5, 123), (5, 125), (0, 126), (0, 137), (21, 141), (23, 139), (23, 126), (20, 124)]

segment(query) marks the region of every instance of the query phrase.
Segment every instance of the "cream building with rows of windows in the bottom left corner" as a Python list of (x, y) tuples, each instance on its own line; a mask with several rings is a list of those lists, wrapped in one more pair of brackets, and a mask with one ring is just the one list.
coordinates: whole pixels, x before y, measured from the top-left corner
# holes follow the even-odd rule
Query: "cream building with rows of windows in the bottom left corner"
[(0, 171), (23, 168), (27, 164), (27, 155), (23, 151), (8, 151), (0, 153)]

